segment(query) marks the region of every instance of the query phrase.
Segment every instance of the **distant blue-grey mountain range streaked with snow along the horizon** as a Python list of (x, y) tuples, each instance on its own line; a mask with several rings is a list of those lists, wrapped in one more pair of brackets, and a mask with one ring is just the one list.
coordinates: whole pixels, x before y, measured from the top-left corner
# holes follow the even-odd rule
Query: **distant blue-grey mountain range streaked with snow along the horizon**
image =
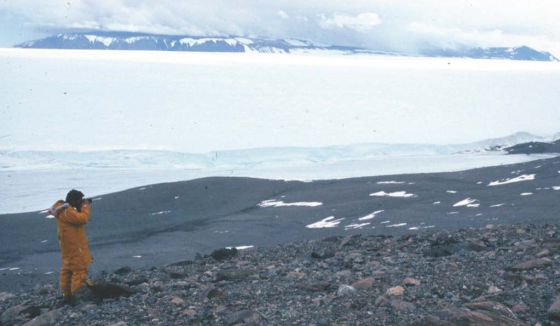
[[(258, 53), (339, 53), (408, 55), (372, 49), (323, 45), (299, 39), (266, 39), (248, 37), (195, 37), (155, 35), (129, 32), (72, 32), (60, 33), (43, 39), (16, 45), (21, 48), (41, 49), (96, 49), (96, 50), (151, 50), (193, 52), (258, 52)], [(465, 57), (477, 59), (510, 59), (531, 61), (558, 61), (552, 54), (527, 46), (440, 49), (425, 51), (421, 56)]]

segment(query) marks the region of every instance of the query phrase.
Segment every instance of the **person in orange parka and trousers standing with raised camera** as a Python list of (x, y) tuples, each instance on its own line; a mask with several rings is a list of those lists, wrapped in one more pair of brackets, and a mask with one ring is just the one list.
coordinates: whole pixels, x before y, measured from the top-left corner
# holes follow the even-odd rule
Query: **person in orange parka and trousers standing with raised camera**
[(50, 212), (56, 217), (58, 242), (62, 256), (60, 288), (63, 301), (73, 303), (76, 292), (86, 284), (88, 267), (93, 262), (86, 236), (90, 201), (84, 194), (71, 190), (66, 201), (57, 201)]

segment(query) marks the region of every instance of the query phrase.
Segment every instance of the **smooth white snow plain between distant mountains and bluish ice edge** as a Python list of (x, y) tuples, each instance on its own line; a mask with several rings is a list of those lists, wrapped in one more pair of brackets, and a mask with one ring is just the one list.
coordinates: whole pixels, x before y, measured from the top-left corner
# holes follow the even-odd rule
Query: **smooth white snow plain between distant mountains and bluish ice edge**
[(560, 63), (0, 49), (0, 148), (467, 143), (558, 132)]

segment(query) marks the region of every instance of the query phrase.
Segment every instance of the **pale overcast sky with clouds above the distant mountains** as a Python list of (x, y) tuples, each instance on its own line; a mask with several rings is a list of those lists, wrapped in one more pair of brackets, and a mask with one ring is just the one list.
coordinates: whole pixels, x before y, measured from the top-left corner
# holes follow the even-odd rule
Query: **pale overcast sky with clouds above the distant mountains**
[(0, 0), (0, 46), (68, 29), (301, 38), (414, 52), (529, 45), (560, 56), (557, 0)]

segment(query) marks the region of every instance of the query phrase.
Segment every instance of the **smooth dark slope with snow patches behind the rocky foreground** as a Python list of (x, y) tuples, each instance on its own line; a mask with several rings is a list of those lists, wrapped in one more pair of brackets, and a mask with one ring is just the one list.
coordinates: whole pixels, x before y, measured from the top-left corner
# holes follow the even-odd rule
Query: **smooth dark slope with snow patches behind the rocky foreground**
[[(226, 246), (557, 224), (559, 196), (560, 157), (449, 173), (314, 182), (215, 177), (144, 186), (94, 198), (91, 273), (162, 266)], [(46, 211), (0, 216), (0, 291), (56, 282), (59, 265), (56, 225)]]

